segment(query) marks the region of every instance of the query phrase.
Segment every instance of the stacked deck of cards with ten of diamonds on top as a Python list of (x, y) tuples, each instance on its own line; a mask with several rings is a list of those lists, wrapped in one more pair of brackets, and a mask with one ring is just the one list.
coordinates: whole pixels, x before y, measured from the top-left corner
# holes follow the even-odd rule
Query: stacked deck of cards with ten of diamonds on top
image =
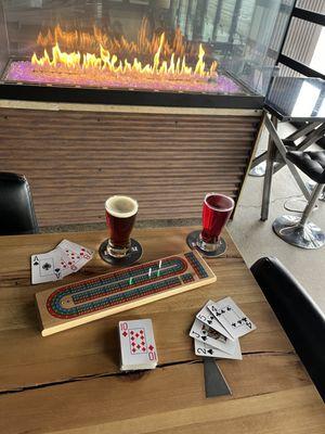
[(121, 371), (156, 368), (158, 356), (152, 320), (120, 321), (118, 330)]

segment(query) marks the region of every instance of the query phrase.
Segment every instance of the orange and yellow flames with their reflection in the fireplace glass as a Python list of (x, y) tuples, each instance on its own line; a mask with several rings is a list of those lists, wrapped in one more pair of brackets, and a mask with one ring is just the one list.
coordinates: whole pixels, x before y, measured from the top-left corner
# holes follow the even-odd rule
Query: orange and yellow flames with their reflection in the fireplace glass
[[(195, 54), (194, 48), (197, 50), (197, 46), (184, 41), (179, 28), (171, 44), (165, 33), (160, 36), (154, 35), (151, 40), (147, 34), (147, 18), (142, 21), (136, 43), (128, 41), (123, 36), (119, 39), (112, 38), (98, 27), (93, 28), (93, 34), (89, 34), (80, 30), (64, 31), (57, 25), (53, 31), (49, 29), (46, 35), (39, 34), (37, 43), (43, 47), (43, 54), (38, 58), (34, 53), (31, 63), (44, 72), (78, 74), (87, 71), (102, 74), (109, 72), (180, 79), (217, 76), (217, 62), (212, 62), (210, 68), (206, 71), (203, 46), (199, 44), (198, 53)], [(62, 50), (62, 47), (67, 51)], [(194, 55), (196, 64), (190, 66), (186, 58), (192, 59)], [(151, 61), (141, 62), (140, 56)], [(130, 58), (132, 61), (129, 62)]]

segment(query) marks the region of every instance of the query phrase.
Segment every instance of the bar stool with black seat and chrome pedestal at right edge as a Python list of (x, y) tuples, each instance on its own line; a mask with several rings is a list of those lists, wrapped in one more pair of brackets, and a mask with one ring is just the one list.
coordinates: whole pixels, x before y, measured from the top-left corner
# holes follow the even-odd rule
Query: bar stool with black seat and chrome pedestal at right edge
[(316, 186), (301, 217), (285, 215), (273, 222), (274, 232), (286, 243), (302, 248), (318, 248), (325, 244), (325, 233), (321, 228), (308, 221), (325, 184), (325, 151), (301, 152), (289, 151), (286, 158), (308, 175)]

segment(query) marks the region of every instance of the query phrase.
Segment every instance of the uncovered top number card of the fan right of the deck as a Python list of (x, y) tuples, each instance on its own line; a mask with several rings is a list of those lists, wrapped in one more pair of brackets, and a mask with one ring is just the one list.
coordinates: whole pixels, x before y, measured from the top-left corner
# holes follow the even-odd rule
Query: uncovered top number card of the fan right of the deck
[(256, 329), (256, 326), (231, 297), (208, 305), (208, 309), (234, 339), (244, 336)]

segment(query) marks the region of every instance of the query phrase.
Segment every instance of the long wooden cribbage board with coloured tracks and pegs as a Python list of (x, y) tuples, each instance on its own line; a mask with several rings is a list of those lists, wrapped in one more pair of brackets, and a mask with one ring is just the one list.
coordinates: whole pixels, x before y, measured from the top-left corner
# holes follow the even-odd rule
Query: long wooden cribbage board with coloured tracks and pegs
[(39, 292), (41, 333), (48, 336), (216, 280), (192, 251)]

